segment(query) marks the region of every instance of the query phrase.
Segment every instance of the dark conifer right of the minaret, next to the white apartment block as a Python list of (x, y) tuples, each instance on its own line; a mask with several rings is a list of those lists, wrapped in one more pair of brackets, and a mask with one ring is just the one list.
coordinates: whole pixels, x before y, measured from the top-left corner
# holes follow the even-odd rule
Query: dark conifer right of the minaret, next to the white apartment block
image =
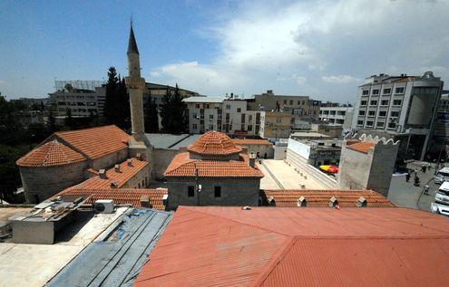
[(167, 87), (161, 107), (161, 123), (164, 132), (174, 134), (188, 132), (187, 105), (182, 99), (178, 84), (173, 93)]

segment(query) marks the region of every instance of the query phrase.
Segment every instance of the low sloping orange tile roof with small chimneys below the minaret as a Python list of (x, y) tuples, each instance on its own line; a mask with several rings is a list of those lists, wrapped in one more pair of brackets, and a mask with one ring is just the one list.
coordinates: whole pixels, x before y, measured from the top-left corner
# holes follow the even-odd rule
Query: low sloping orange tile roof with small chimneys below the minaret
[[(80, 189), (80, 188), (88, 188), (88, 189), (97, 189), (97, 188), (110, 188), (112, 182), (116, 182), (118, 187), (122, 187), (125, 183), (127, 183), (132, 177), (134, 177), (139, 171), (142, 170), (143, 167), (148, 166), (148, 162), (139, 160), (137, 158), (132, 158), (132, 167), (128, 166), (127, 161), (124, 161), (120, 164), (120, 172), (116, 172), (114, 167), (106, 170), (106, 177), (101, 178), (100, 176), (94, 176), (89, 179), (84, 180), (82, 183), (68, 187), (68, 189)], [(91, 171), (93, 173), (93, 171)]]

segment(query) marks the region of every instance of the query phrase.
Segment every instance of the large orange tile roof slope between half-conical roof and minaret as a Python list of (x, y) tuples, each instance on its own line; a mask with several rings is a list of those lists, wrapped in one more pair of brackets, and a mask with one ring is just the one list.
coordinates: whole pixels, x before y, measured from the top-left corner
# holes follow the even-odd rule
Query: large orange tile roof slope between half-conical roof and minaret
[(130, 135), (116, 126), (58, 131), (54, 135), (69, 143), (89, 158), (100, 158), (127, 148)]

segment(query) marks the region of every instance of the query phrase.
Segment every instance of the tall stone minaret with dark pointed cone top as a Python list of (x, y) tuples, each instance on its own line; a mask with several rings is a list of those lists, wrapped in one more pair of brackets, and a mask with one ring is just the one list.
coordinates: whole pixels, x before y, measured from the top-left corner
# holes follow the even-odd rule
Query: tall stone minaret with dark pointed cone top
[(125, 82), (130, 95), (132, 124), (132, 137), (129, 143), (130, 152), (132, 156), (136, 153), (141, 153), (144, 158), (148, 156), (145, 159), (149, 160), (149, 155), (144, 155), (144, 149), (151, 148), (149, 140), (144, 135), (142, 93), (145, 88), (145, 79), (141, 77), (141, 61), (134, 31), (132, 30), (132, 23), (127, 55), (129, 76), (125, 78)]

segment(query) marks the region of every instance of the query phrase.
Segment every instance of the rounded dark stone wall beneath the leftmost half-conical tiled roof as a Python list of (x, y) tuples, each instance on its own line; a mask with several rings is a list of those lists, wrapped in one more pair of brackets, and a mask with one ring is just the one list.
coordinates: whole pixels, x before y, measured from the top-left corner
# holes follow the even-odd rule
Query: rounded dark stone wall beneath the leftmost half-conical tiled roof
[(87, 163), (78, 162), (57, 167), (19, 167), (26, 203), (37, 203), (84, 180)]

